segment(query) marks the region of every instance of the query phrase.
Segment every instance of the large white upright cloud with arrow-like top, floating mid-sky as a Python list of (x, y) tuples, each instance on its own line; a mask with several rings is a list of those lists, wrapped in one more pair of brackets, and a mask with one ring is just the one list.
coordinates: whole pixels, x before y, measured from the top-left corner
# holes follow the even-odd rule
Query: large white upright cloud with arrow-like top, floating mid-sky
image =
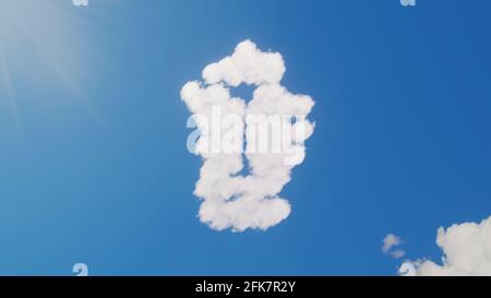
[[(207, 143), (203, 135), (212, 140), (213, 135), (209, 135), (206, 126), (196, 123), (202, 136), (197, 140), (195, 153), (203, 157), (203, 166), (194, 194), (203, 199), (200, 219), (214, 229), (267, 229), (290, 214), (289, 202), (278, 194), (290, 181), (291, 169), (301, 164), (306, 156), (303, 141), (314, 128), (307, 116), (314, 102), (309, 96), (291, 94), (282, 86), (284, 73), (280, 53), (263, 52), (252, 41), (244, 40), (231, 56), (207, 65), (202, 73), (203, 81), (188, 82), (181, 90), (181, 98), (193, 115), (211, 117), (213, 109), (218, 107), (223, 117), (238, 116), (243, 126), (239, 138), (248, 143), (255, 138), (244, 121), (250, 115), (295, 115), (295, 121), (288, 126), (291, 129), (298, 126), (304, 128), (304, 133), (295, 136), (288, 144), (296, 153), (295, 158), (285, 163), (291, 157), (286, 152), (206, 151)], [(255, 87), (249, 103), (230, 95), (230, 87), (240, 84)], [(241, 172), (244, 158), (249, 163), (248, 175)]]

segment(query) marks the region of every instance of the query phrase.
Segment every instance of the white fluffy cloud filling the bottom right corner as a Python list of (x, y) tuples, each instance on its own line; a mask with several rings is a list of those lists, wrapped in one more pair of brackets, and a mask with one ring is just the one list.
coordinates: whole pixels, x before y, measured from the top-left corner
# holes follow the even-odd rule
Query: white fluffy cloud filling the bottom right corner
[(400, 272), (430, 276), (491, 275), (491, 217), (479, 224), (440, 227), (436, 245), (443, 251), (442, 264), (430, 260), (406, 262)]

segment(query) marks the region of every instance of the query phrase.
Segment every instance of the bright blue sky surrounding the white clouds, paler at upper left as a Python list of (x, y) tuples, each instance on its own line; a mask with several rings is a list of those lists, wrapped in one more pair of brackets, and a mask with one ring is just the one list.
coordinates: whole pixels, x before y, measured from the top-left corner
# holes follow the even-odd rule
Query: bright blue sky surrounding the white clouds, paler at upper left
[[(388, 233), (407, 258), (439, 260), (439, 226), (491, 214), (490, 12), (0, 0), (0, 274), (393, 275)], [(282, 192), (291, 215), (215, 231), (196, 218), (179, 92), (247, 38), (282, 52), (316, 128)]]

